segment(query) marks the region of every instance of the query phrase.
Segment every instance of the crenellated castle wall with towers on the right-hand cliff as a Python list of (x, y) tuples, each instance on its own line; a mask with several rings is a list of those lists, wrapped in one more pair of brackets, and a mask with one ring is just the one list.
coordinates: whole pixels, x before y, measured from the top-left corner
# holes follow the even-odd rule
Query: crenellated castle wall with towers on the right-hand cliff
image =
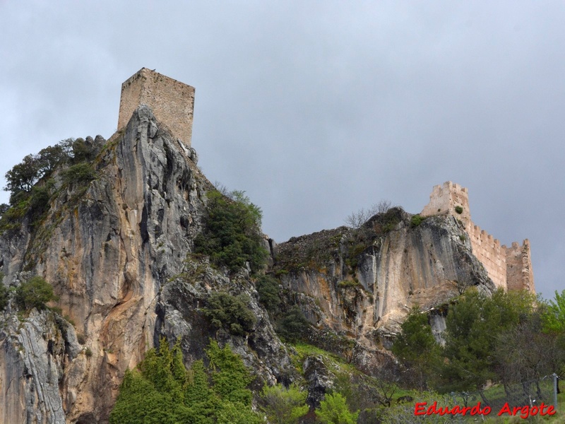
[(472, 253), (496, 287), (535, 293), (528, 239), (522, 245), (513, 242), (510, 247), (501, 246), (499, 240), (472, 222), (468, 190), (451, 181), (434, 187), (429, 195), (429, 204), (420, 213), (421, 216), (441, 214), (455, 216), (463, 223), (470, 237)]

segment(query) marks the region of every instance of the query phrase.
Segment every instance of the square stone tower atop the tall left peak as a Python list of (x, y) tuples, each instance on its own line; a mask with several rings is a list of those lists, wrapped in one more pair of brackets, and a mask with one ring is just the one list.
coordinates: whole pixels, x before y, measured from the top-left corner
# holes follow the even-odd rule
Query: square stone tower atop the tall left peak
[(172, 135), (191, 147), (194, 114), (194, 87), (187, 86), (147, 68), (141, 68), (121, 84), (118, 130), (123, 129), (133, 112), (147, 105)]

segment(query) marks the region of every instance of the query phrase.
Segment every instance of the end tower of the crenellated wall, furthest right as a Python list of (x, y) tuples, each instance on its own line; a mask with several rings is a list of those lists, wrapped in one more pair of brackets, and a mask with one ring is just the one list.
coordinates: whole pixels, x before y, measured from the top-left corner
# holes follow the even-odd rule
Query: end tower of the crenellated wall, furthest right
[(506, 250), (506, 279), (509, 290), (529, 290), (535, 293), (532, 260), (530, 258), (530, 241), (522, 245), (513, 242), (511, 247), (503, 246)]

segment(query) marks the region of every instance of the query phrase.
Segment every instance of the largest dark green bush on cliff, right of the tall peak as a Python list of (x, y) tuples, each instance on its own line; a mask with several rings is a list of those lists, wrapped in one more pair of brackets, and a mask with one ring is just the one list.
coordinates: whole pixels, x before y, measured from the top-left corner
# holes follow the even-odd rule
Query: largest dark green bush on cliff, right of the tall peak
[(263, 247), (261, 218), (261, 208), (252, 204), (244, 192), (234, 191), (229, 197), (210, 192), (203, 232), (194, 240), (194, 250), (230, 272), (246, 263), (252, 271), (258, 271), (268, 254)]

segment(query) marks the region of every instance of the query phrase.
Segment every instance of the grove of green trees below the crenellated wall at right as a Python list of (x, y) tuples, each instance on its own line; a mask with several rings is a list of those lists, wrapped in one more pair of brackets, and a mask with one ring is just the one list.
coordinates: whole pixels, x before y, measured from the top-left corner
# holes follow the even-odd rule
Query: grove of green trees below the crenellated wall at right
[(443, 347), (434, 341), (427, 314), (413, 310), (393, 344), (407, 375), (420, 376), (405, 383), (449, 392), (562, 375), (564, 299), (565, 292), (545, 303), (525, 292), (466, 290), (448, 307)]

